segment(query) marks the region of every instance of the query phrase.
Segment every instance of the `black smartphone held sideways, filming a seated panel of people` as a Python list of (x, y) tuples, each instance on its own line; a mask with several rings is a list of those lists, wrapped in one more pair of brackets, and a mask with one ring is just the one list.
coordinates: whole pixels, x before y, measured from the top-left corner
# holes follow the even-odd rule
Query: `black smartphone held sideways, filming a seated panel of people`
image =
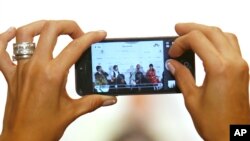
[[(75, 64), (76, 92), (81, 96), (179, 93), (175, 78), (165, 67), (176, 38), (117, 38), (92, 44)], [(195, 77), (192, 51), (174, 59)]]

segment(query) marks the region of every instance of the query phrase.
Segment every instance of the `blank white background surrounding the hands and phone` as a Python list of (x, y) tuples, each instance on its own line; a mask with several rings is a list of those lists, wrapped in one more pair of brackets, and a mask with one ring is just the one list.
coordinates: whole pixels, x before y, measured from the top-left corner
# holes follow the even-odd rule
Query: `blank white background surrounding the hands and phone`
[[(198, 22), (234, 32), (239, 38), (243, 57), (249, 62), (248, 3), (236, 0), (0, 0), (0, 32), (10, 26), (19, 27), (40, 19), (70, 19), (84, 31), (104, 29), (108, 37), (168, 36), (176, 35), (174, 25), (177, 22)], [(69, 41), (68, 38), (60, 38), (55, 55)], [(8, 51), (11, 52), (11, 44)], [(204, 73), (199, 60), (196, 75), (197, 84), (201, 84)], [(74, 70), (71, 69), (67, 90), (77, 98), (74, 87)], [(1, 121), (6, 91), (7, 85), (0, 73)], [(181, 94), (142, 97), (148, 99), (149, 108), (145, 128), (157, 140), (201, 140)], [(118, 97), (115, 106), (80, 117), (66, 130), (61, 141), (111, 141), (129, 126), (126, 121), (134, 109), (130, 104), (133, 98)]]

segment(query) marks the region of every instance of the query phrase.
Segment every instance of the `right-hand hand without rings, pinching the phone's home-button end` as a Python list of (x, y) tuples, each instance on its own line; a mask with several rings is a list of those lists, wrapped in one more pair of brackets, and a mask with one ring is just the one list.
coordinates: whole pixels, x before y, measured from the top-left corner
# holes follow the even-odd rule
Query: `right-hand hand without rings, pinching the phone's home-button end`
[(203, 61), (206, 72), (198, 87), (186, 67), (175, 60), (167, 62), (195, 127), (206, 141), (229, 140), (230, 124), (250, 124), (248, 65), (237, 38), (217, 27), (193, 23), (177, 24), (176, 31), (180, 37), (169, 55), (178, 57), (191, 49)]

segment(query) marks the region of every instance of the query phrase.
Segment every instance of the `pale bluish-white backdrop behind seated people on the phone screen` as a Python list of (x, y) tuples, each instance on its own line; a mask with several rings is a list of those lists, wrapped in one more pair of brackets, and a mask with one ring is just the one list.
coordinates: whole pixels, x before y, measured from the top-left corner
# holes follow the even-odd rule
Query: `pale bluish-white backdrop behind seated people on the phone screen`
[[(158, 44), (156, 48), (153, 45)], [(125, 48), (125, 45), (129, 47)], [(137, 43), (105, 43), (95, 44), (92, 47), (92, 77), (95, 80), (96, 66), (102, 66), (103, 71), (113, 75), (113, 66), (118, 65), (119, 72), (124, 75), (127, 84), (130, 83), (131, 73), (135, 72), (136, 65), (140, 64), (140, 71), (145, 73), (149, 69), (149, 64), (153, 64), (156, 76), (159, 80), (164, 71), (163, 41), (148, 41)], [(152, 49), (153, 48), (153, 49)], [(111, 78), (109, 78), (111, 79)], [(135, 78), (133, 78), (135, 79)]]

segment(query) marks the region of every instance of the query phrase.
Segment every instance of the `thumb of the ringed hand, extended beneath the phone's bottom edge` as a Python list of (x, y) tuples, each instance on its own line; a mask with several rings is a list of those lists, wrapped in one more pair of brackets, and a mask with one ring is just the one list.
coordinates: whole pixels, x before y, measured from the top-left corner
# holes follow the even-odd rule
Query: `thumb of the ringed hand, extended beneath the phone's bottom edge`
[(75, 118), (92, 112), (102, 106), (110, 106), (117, 102), (114, 96), (87, 95), (73, 102)]

